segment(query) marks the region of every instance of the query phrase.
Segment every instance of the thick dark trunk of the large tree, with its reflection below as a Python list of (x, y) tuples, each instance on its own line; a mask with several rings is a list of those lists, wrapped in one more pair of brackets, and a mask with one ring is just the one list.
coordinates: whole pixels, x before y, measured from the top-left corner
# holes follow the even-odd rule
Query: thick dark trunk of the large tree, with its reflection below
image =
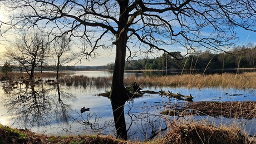
[(125, 25), (129, 18), (126, 11), (129, 1), (118, 1), (120, 6), (119, 29), (116, 34), (116, 59), (110, 91), (110, 100), (114, 115), (117, 138), (127, 140), (127, 130), (124, 115), (125, 102), (129, 100), (128, 93), (124, 87), (124, 70), (126, 58), (127, 29)]

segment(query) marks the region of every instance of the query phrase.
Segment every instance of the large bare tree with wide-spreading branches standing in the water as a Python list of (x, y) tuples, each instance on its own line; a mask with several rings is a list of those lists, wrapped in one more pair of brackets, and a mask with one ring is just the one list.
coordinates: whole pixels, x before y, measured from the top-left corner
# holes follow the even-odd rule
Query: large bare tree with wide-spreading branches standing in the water
[(175, 57), (170, 53), (174, 51), (170, 46), (184, 47), (187, 53), (197, 48), (221, 50), (237, 42), (235, 28), (255, 31), (255, 1), (12, 0), (2, 3), (13, 12), (11, 22), (2, 23), (3, 28), (9, 24), (11, 28), (47, 28), (50, 35), (62, 32), (53, 38), (71, 34), (87, 42), (80, 54), (82, 58), (95, 56), (98, 48), (115, 47), (110, 100), (117, 137), (123, 139), (127, 139), (124, 105), (130, 98), (124, 86), (125, 59), (136, 54), (132, 52), (164, 51)]

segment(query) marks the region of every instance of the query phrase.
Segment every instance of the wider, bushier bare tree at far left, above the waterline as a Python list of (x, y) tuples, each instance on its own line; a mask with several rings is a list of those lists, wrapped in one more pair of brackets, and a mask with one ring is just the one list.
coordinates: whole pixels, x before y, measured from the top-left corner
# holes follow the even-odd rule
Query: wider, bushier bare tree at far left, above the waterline
[[(18, 62), (26, 69), (29, 78), (34, 77), (35, 68), (46, 57), (49, 44), (40, 33), (23, 34), (20, 38), (7, 48), (5, 56)], [(30, 72), (30, 73), (29, 73)]]

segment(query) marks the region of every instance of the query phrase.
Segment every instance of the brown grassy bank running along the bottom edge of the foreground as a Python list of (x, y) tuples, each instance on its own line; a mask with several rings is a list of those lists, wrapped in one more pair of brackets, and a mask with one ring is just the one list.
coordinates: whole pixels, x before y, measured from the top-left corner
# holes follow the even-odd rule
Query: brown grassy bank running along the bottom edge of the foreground
[(46, 136), (0, 125), (0, 143), (254, 143), (237, 127), (216, 127), (202, 122), (176, 123), (166, 136), (152, 141), (117, 140), (113, 136)]

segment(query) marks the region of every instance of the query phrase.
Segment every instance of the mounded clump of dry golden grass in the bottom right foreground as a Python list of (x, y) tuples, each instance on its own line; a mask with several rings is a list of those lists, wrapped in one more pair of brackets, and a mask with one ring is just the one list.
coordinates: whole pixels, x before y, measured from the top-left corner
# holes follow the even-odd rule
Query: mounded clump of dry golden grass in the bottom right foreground
[(252, 143), (236, 126), (214, 126), (205, 121), (186, 121), (170, 126), (160, 143)]

